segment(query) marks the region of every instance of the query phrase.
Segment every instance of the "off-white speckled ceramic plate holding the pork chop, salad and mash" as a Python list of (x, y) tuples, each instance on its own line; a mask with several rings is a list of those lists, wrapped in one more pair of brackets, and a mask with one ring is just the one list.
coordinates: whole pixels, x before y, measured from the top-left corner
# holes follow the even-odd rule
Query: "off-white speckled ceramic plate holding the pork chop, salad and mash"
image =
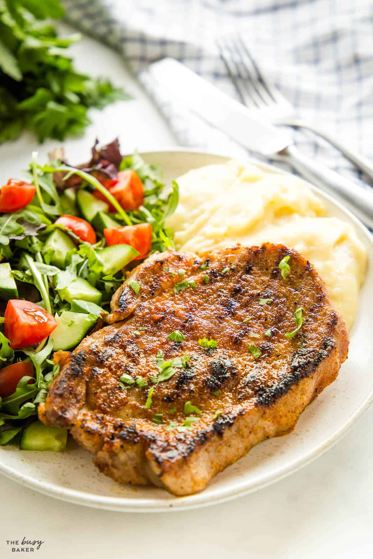
[[(227, 160), (220, 155), (185, 149), (143, 156), (147, 162), (160, 165), (167, 179), (192, 168)], [(251, 163), (272, 172), (283, 172), (261, 162)], [(256, 491), (299, 470), (341, 439), (373, 400), (373, 237), (348, 210), (318, 189), (314, 190), (322, 197), (330, 215), (342, 217), (355, 226), (369, 253), (369, 268), (350, 333), (348, 361), (342, 365), (338, 380), (304, 411), (294, 432), (259, 444), (245, 458), (219, 473), (204, 491), (187, 497), (174, 497), (155, 487), (121, 486), (99, 473), (92, 464), (91, 454), (72, 440), (61, 454), (2, 447), (0, 471), (22, 485), (71, 503), (119, 511), (165, 511), (170, 507), (185, 510)]]

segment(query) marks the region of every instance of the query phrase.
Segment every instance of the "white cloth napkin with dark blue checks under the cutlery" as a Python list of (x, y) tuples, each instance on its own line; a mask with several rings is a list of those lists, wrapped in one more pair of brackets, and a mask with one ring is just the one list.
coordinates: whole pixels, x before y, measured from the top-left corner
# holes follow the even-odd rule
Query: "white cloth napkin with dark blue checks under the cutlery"
[[(306, 119), (373, 157), (373, 12), (368, 0), (64, 0), (68, 20), (126, 56), (181, 145), (247, 151), (155, 84), (148, 64), (171, 56), (232, 96), (215, 38), (239, 32), (266, 77)], [(294, 131), (305, 154), (350, 178), (323, 141)]]

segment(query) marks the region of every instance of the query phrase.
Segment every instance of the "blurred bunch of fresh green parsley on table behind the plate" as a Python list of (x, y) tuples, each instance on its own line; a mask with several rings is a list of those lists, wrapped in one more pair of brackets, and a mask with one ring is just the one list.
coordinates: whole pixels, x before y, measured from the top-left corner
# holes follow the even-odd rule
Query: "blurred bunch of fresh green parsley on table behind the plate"
[(40, 142), (82, 134), (89, 107), (129, 98), (107, 80), (74, 71), (64, 52), (80, 36), (60, 38), (43, 21), (63, 16), (60, 0), (0, 1), (0, 144), (23, 129)]

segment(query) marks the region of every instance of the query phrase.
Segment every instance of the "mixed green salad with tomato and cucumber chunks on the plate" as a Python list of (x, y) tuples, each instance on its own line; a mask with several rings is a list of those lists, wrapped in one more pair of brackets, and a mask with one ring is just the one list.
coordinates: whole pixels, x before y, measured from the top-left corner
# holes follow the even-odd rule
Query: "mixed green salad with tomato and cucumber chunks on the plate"
[(27, 177), (0, 190), (0, 444), (63, 450), (65, 430), (35, 421), (59, 374), (53, 352), (74, 349), (126, 273), (173, 246), (178, 187), (138, 153), (122, 158), (117, 140), (78, 167), (34, 153)]

